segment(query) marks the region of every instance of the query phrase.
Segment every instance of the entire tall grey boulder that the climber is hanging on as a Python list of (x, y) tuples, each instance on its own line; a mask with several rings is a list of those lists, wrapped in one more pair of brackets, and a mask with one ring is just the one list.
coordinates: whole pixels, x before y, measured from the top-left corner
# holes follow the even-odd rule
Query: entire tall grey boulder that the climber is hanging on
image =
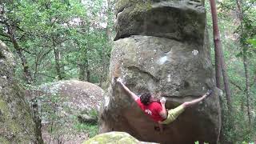
[(126, 131), (146, 142), (216, 143), (220, 106), (210, 61), (203, 2), (118, 0), (110, 79), (120, 76), (135, 94), (162, 92), (166, 108), (214, 94), (185, 110), (162, 134), (135, 102), (111, 82), (100, 116), (100, 132)]

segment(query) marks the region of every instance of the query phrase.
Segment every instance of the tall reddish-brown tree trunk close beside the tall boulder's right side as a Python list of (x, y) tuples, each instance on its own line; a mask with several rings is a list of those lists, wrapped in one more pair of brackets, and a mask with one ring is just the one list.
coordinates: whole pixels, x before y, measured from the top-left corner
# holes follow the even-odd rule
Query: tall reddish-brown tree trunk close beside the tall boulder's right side
[[(217, 10), (216, 4), (214, 0), (210, 0), (210, 9), (213, 19), (213, 28), (214, 28), (214, 51), (215, 51), (215, 71), (216, 71), (216, 85), (220, 88), (220, 78), (221, 72), (224, 80), (224, 86), (226, 91), (226, 101), (229, 111), (232, 110), (232, 103), (231, 103), (231, 94), (230, 94), (230, 87), (229, 87), (229, 80), (226, 74), (226, 65), (223, 58), (223, 51), (222, 51), (222, 43), (220, 41), (220, 34), (218, 30), (218, 17), (217, 17)], [(222, 71), (221, 71), (222, 70)]]

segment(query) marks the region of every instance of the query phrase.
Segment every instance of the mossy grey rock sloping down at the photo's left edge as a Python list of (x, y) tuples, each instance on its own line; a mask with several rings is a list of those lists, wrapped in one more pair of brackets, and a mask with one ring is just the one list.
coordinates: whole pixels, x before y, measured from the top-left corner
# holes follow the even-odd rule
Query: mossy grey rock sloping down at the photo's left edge
[(14, 65), (13, 55), (0, 41), (0, 143), (42, 142), (25, 94), (14, 81)]

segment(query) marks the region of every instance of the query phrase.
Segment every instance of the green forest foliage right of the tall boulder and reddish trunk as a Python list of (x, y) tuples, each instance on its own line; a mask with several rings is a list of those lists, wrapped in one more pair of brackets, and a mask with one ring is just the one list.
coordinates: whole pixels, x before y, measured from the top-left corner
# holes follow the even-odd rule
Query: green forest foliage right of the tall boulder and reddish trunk
[[(237, 1), (223, 0), (217, 3), (218, 25), (222, 36), (222, 49), (226, 61), (227, 73), (230, 78), (230, 89), (234, 111), (229, 115), (226, 107), (226, 99), (222, 98), (222, 143), (253, 142), (255, 139), (255, 28), (256, 9), (254, 0), (242, 2), (242, 17), (238, 14)], [(210, 31), (210, 43), (213, 51), (212, 20), (210, 18), (210, 6), (206, 1), (207, 28)], [(240, 19), (242, 18), (241, 22)], [(243, 58), (248, 58), (248, 74), (250, 81), (250, 114), (253, 123), (248, 125), (248, 113), (246, 106), (246, 78)], [(222, 90), (224, 90), (222, 88)], [(224, 94), (225, 95), (225, 94)]]

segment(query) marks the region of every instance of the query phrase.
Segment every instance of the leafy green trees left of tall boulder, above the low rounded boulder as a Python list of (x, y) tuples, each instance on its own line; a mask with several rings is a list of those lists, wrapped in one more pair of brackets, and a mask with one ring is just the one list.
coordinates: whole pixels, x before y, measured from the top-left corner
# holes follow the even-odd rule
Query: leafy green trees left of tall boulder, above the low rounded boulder
[[(113, 3), (106, 6), (103, 0), (24, 0), (4, 4), (34, 84), (78, 78), (84, 74), (79, 72), (81, 68), (90, 72), (86, 81), (106, 80), (112, 45), (106, 29), (112, 30)], [(6, 34), (6, 25), (1, 23), (0, 28), (0, 35)], [(10, 39), (0, 38), (13, 47)], [(23, 75), (19, 62), (16, 76), (22, 79)]]

